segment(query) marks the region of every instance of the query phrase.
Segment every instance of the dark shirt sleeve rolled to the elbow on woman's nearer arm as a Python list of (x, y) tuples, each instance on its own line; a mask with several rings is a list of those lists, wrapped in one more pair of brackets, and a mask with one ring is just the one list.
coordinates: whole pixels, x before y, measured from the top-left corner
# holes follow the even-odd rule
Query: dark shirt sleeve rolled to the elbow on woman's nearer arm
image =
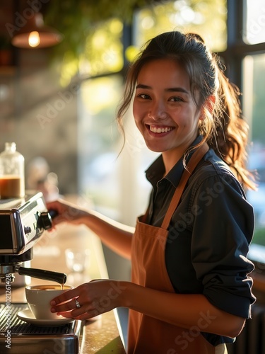
[(192, 264), (214, 306), (249, 318), (254, 265), (247, 259), (254, 229), (252, 205), (230, 175), (210, 176), (196, 188)]

